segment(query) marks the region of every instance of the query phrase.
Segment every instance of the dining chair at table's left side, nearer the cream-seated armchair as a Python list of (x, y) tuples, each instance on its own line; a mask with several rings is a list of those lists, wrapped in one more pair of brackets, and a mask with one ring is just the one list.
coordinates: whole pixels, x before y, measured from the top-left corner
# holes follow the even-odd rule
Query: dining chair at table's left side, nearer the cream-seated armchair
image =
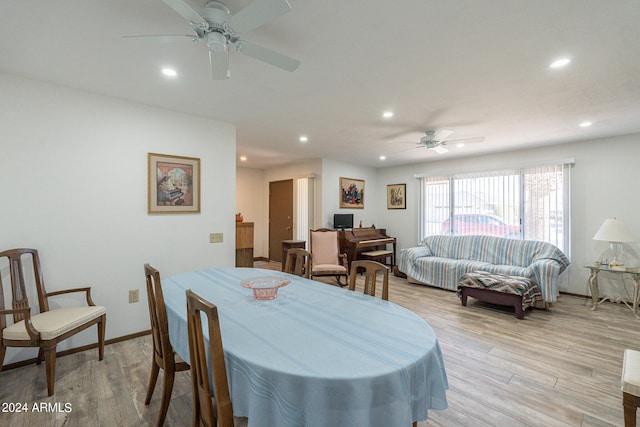
[(162, 387), (162, 401), (160, 414), (158, 414), (157, 426), (164, 425), (164, 420), (171, 401), (171, 392), (176, 372), (186, 371), (189, 364), (178, 356), (171, 342), (169, 342), (169, 322), (167, 309), (164, 305), (160, 272), (150, 266), (144, 265), (144, 275), (147, 281), (147, 301), (149, 303), (149, 317), (151, 319), (151, 337), (153, 340), (153, 356), (151, 357), (151, 376), (147, 387), (147, 396), (144, 404), (148, 405), (156, 387), (160, 369), (164, 372), (164, 384)]

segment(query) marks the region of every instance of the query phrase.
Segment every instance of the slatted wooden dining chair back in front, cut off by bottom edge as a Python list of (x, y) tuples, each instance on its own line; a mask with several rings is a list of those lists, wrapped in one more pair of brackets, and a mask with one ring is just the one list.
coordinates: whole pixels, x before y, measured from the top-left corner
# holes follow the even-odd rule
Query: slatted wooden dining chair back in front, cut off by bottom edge
[[(208, 349), (205, 346), (201, 313), (207, 317)], [(229, 395), (218, 309), (209, 301), (192, 292), (191, 289), (187, 290), (187, 324), (191, 382), (193, 384), (193, 426), (233, 427), (233, 406)], [(211, 360), (211, 378), (213, 378), (215, 399), (212, 399), (211, 394), (207, 352)]]

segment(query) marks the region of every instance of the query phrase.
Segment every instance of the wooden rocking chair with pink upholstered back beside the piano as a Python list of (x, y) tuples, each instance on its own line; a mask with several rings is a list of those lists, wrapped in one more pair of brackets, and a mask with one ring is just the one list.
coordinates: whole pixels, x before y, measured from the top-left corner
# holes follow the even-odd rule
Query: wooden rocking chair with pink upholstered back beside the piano
[[(340, 253), (338, 232), (328, 228), (311, 230), (309, 234), (311, 252), (310, 277), (334, 276), (340, 286), (346, 286), (349, 279), (347, 254)], [(344, 277), (343, 284), (341, 278)]]

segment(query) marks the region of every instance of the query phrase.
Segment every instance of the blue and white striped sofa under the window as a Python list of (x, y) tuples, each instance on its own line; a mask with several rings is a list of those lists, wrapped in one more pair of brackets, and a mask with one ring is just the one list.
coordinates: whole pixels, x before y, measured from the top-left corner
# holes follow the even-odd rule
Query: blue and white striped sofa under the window
[(534, 280), (545, 302), (555, 302), (558, 276), (569, 265), (551, 243), (493, 236), (428, 236), (400, 250), (398, 269), (409, 280), (455, 291), (463, 274), (475, 270)]

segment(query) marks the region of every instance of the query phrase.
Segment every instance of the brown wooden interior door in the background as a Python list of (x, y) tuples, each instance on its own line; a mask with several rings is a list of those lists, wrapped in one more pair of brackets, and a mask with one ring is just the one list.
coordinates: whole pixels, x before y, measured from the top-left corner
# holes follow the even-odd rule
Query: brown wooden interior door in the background
[(269, 183), (269, 259), (284, 262), (282, 241), (293, 239), (293, 180)]

